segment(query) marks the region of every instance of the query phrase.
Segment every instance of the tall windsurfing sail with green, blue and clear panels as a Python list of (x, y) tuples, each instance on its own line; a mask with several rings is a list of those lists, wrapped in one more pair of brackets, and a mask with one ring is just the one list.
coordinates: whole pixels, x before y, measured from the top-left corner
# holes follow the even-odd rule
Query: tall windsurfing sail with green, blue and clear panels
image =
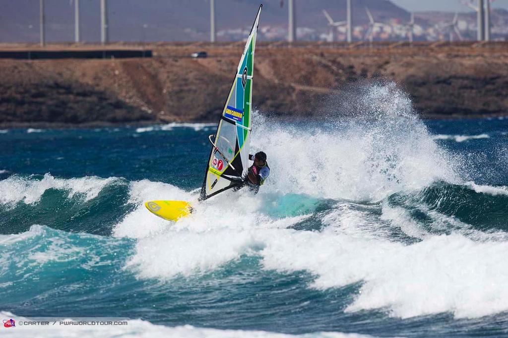
[(238, 69), (224, 105), (212, 143), (200, 199), (210, 198), (242, 184), (247, 175), (251, 129), (252, 74), (259, 16), (252, 25)]

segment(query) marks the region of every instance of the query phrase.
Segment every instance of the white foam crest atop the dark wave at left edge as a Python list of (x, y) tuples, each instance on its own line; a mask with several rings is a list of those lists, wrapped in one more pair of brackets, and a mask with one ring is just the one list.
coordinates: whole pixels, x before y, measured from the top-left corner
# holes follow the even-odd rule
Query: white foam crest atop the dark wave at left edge
[(79, 194), (84, 200), (97, 197), (99, 192), (108, 184), (118, 180), (117, 178), (82, 177), (73, 179), (54, 178), (45, 174), (42, 180), (34, 177), (11, 176), (0, 181), (0, 204), (16, 203), (23, 201), (25, 204), (33, 204), (41, 199), (48, 189), (66, 190), (68, 197)]

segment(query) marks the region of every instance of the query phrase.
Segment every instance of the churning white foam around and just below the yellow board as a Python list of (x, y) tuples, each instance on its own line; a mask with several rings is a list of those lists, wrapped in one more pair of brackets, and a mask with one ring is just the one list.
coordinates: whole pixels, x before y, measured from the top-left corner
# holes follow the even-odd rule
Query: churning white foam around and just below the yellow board
[[(259, 230), (285, 228), (308, 217), (272, 218), (263, 212), (263, 198), (259, 196), (245, 190), (229, 191), (198, 204), (196, 195), (169, 184), (135, 182), (131, 186), (131, 202), (138, 203), (138, 208), (117, 224), (113, 233), (138, 239), (136, 254), (126, 266), (135, 269), (141, 278), (167, 280), (177, 275), (207, 273), (259, 250)], [(141, 204), (157, 198), (191, 201), (195, 209), (189, 217), (168, 222)]]

